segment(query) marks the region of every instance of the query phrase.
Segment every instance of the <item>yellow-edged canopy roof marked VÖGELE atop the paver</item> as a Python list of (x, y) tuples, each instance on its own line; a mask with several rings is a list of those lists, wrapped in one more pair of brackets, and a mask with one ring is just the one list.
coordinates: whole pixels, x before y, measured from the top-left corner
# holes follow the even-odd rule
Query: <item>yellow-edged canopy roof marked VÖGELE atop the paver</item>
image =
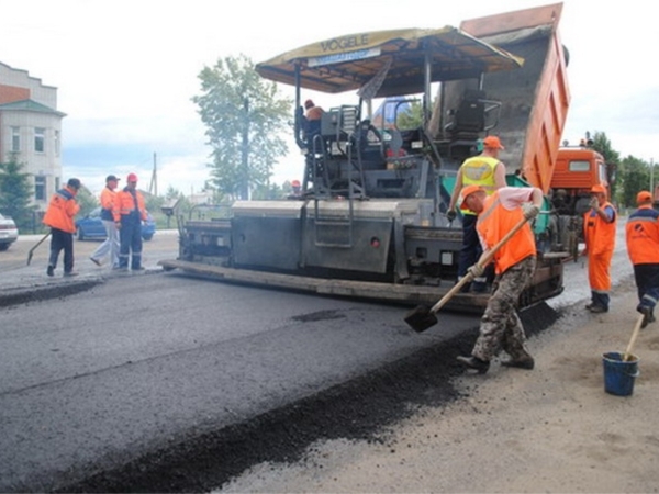
[(381, 78), (371, 97), (421, 92), (429, 82), (511, 70), (524, 60), (456, 27), (391, 30), (333, 37), (283, 53), (256, 66), (266, 79), (338, 93)]

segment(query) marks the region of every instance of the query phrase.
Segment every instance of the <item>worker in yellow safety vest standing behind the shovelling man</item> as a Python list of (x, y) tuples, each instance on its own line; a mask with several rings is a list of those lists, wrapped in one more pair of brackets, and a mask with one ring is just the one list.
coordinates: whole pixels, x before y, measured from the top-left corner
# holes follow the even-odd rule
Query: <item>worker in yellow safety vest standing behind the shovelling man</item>
[[(456, 216), (456, 205), (460, 191), (466, 186), (481, 186), (488, 195), (495, 190), (505, 187), (505, 165), (499, 160), (499, 151), (504, 149), (499, 137), (490, 135), (483, 139), (483, 150), (480, 155), (466, 159), (456, 176), (456, 184), (446, 217), (453, 222)], [(473, 266), (482, 250), (478, 234), (476, 232), (477, 215), (473, 211), (465, 207), (462, 202), (462, 248), (458, 259), (458, 280), (467, 273), (467, 268)], [(465, 291), (469, 291), (469, 284)], [(482, 292), (485, 290), (485, 277), (480, 276), (473, 281), (473, 290)]]

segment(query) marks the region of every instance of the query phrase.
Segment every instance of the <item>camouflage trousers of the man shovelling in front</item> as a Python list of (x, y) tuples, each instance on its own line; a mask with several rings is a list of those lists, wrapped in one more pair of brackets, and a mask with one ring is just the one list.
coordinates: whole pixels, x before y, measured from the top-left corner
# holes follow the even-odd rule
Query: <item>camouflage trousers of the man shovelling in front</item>
[(517, 315), (520, 294), (533, 277), (536, 258), (527, 257), (498, 276), (492, 285), (492, 296), (481, 318), (480, 335), (471, 355), (490, 361), (502, 349), (513, 360), (528, 357), (524, 348), (526, 335)]

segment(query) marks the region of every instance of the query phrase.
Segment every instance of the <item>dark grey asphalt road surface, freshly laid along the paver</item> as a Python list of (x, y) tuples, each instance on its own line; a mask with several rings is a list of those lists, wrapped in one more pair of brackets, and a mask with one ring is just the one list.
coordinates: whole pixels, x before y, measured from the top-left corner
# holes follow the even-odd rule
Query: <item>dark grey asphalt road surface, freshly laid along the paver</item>
[[(0, 308), (0, 492), (210, 491), (319, 438), (368, 438), (416, 404), (458, 397), (449, 381), (473, 316), (443, 313), (416, 334), (409, 307), (164, 273), (175, 233), (145, 243), (148, 269), (129, 276), (88, 261), (98, 243), (76, 242), (76, 280), (90, 283), (66, 291), (45, 257), (24, 266), (36, 239), (2, 252), (1, 284), (58, 282), (63, 296)], [(557, 310), (584, 296), (582, 263), (566, 276)], [(556, 312), (523, 318), (533, 334)]]

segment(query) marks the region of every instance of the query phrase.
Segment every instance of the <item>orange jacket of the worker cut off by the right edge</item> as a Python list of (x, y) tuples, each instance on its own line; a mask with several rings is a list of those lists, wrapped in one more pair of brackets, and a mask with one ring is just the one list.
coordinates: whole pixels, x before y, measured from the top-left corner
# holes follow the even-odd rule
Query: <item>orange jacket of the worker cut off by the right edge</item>
[(659, 212), (641, 205), (629, 215), (625, 226), (627, 254), (633, 265), (659, 263)]

